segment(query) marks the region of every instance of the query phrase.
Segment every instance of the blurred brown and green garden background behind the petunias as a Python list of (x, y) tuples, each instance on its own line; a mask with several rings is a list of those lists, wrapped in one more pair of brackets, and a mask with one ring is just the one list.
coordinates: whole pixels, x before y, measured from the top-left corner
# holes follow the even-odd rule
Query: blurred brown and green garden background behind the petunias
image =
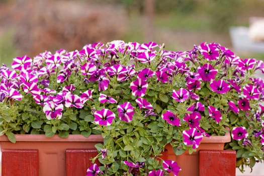
[(0, 0), (0, 64), (112, 40), (155, 41), (167, 50), (207, 41), (232, 49), (229, 28), (248, 26), (263, 9), (263, 0)]

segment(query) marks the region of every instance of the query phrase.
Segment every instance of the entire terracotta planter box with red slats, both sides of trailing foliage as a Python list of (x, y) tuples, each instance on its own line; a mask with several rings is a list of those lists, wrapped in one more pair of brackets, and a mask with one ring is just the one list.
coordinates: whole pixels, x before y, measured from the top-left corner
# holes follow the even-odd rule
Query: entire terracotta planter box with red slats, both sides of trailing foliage
[[(85, 175), (92, 164), (90, 158), (98, 153), (95, 144), (102, 143), (101, 135), (70, 135), (68, 138), (45, 135), (16, 135), (17, 142), (11, 143), (6, 136), (0, 136), (2, 150), (2, 176), (76, 176)], [(165, 147), (162, 159), (176, 160), (182, 168), (179, 176), (215, 175), (216, 171), (235, 175), (235, 151), (223, 150), (229, 142), (230, 133), (225, 136), (203, 137), (197, 152), (188, 151), (175, 155), (170, 145)], [(200, 166), (199, 166), (200, 161)], [(99, 164), (99, 162), (97, 162)], [(172, 174), (170, 174), (172, 175)]]

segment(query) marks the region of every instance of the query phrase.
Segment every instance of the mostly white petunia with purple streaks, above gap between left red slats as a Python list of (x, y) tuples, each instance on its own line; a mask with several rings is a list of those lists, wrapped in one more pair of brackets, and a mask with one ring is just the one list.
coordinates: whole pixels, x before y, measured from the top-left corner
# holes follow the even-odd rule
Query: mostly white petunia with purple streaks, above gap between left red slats
[(63, 111), (63, 105), (55, 104), (53, 101), (50, 101), (43, 107), (43, 111), (48, 120), (60, 119), (62, 117), (61, 111)]

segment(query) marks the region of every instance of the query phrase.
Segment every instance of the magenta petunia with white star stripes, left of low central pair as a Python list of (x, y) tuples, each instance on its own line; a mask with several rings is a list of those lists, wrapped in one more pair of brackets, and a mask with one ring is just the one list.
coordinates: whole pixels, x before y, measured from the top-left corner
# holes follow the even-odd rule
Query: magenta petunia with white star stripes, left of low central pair
[(113, 123), (116, 115), (109, 109), (102, 109), (94, 113), (95, 123), (98, 125), (109, 126)]

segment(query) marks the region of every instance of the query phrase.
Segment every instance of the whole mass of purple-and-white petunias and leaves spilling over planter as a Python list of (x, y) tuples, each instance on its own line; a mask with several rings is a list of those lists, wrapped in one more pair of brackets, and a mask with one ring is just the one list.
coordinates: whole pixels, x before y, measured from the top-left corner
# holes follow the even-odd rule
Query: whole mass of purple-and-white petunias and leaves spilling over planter
[[(264, 63), (241, 59), (216, 43), (167, 51), (154, 42), (87, 44), (80, 51), (16, 57), (0, 69), (0, 131), (14, 134), (102, 134), (102, 166), (87, 175), (177, 175), (160, 161), (167, 144), (176, 154), (198, 148), (203, 136), (224, 135), (237, 166), (263, 159)], [(150, 171), (149, 171), (150, 170)]]

